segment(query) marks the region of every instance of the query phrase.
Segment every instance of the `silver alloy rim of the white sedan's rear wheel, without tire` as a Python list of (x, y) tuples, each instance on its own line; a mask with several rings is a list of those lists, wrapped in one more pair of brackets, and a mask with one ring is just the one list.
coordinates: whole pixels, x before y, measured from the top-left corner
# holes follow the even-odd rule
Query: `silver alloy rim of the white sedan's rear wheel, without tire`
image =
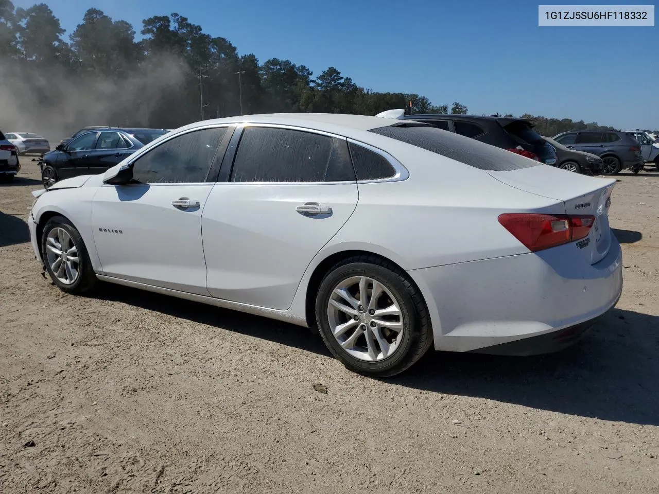
[(378, 362), (398, 349), (405, 331), (401, 304), (379, 281), (364, 276), (341, 281), (327, 310), (332, 334), (351, 356)]

